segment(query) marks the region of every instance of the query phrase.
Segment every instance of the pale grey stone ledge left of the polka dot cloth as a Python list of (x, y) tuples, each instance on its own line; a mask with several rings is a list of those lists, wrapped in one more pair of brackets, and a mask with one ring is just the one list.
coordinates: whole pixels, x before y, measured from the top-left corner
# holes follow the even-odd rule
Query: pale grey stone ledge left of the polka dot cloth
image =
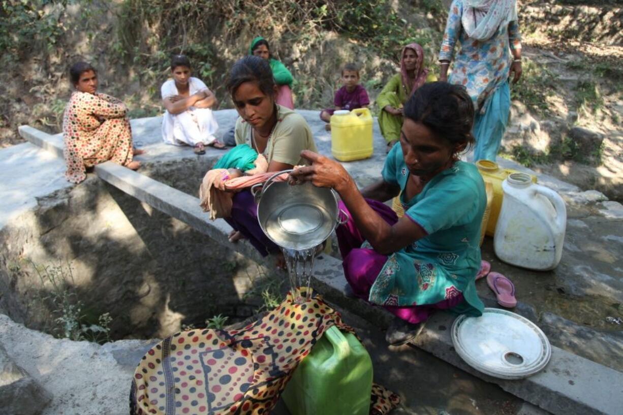
[(30, 330), (1, 314), (0, 338), (7, 350), (15, 351), (11, 358), (16, 365), (30, 373), (52, 398), (47, 399), (47, 406), (36, 397), (15, 399), (37, 409), (31, 412), (16, 412), (11, 407), (4, 411), (7, 407), (0, 399), (1, 415), (127, 414), (133, 371), (141, 353), (155, 342), (119, 340), (100, 346), (59, 339)]

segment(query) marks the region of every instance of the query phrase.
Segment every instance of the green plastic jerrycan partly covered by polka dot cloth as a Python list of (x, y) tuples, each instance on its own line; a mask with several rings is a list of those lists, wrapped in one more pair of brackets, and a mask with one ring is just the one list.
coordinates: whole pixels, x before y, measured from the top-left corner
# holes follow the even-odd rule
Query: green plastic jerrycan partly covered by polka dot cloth
[(371, 391), (368, 351), (332, 326), (298, 365), (282, 398), (292, 415), (368, 415)]

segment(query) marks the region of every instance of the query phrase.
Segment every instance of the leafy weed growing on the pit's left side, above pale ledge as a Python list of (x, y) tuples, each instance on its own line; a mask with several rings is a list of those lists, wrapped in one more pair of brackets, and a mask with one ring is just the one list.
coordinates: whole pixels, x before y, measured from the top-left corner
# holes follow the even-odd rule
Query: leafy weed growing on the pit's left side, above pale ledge
[[(39, 302), (41, 307), (51, 308), (55, 327), (51, 332), (59, 338), (75, 341), (110, 341), (110, 313), (103, 313), (97, 324), (86, 321), (82, 313), (83, 302), (75, 292), (74, 272), (69, 262), (59, 265), (37, 265), (28, 260), (41, 282)], [(42, 293), (42, 292), (45, 292)]]

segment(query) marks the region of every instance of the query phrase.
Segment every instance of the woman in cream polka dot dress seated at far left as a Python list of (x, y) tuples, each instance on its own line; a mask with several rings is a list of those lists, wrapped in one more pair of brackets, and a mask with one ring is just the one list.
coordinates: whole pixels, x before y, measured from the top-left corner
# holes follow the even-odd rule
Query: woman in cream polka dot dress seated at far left
[(121, 100), (97, 92), (97, 71), (87, 62), (72, 65), (69, 75), (76, 90), (63, 117), (67, 180), (80, 183), (87, 178), (87, 167), (108, 160), (138, 169), (141, 163), (132, 157), (143, 151), (133, 151), (128, 108)]

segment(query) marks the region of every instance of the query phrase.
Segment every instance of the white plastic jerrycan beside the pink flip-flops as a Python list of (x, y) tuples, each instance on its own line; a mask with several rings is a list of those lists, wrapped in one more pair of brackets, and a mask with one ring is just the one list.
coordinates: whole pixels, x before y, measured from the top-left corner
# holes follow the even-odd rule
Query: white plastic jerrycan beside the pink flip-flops
[(567, 209), (555, 191), (532, 183), (525, 173), (502, 182), (504, 199), (495, 228), (493, 248), (504, 262), (518, 267), (550, 270), (563, 255)]

